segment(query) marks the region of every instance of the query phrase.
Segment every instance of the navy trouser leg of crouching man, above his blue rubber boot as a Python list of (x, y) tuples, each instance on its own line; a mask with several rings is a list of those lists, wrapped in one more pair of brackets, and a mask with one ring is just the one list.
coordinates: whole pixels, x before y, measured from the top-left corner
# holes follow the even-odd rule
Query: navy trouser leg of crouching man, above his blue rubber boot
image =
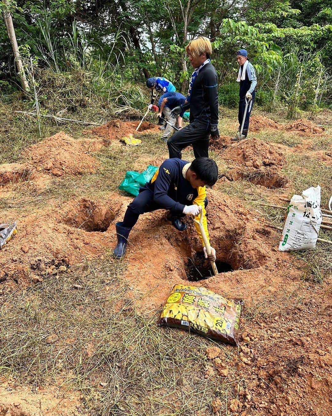
[(144, 214), (145, 212), (155, 211), (156, 209), (162, 208), (154, 202), (153, 192), (149, 191), (149, 189), (145, 189), (128, 205), (125, 217), (123, 218), (123, 227), (134, 227), (139, 215)]

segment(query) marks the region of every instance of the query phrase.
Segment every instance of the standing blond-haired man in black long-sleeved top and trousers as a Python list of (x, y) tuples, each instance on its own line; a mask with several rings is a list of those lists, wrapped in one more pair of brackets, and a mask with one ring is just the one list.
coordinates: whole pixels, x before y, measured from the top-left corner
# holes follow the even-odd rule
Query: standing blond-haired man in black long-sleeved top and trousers
[(176, 117), (190, 108), (190, 124), (177, 131), (167, 141), (169, 157), (180, 158), (181, 150), (193, 145), (195, 158), (208, 157), (209, 137), (219, 137), (218, 78), (211, 64), (211, 42), (198, 37), (189, 42), (186, 52), (195, 69), (191, 75), (186, 101), (171, 111)]

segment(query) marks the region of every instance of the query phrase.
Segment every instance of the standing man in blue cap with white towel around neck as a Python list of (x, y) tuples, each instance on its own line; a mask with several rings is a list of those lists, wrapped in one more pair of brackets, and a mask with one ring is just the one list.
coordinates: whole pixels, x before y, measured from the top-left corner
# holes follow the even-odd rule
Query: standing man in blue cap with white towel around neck
[[(246, 118), (244, 120), (242, 134), (244, 137), (247, 137), (248, 130), (249, 130), (249, 119), (252, 110), (252, 106), (254, 105), (255, 99), (255, 87), (257, 84), (256, 72), (252, 64), (249, 62), (248, 59), (248, 52), (245, 49), (240, 49), (236, 53), (236, 60), (239, 64), (239, 74), (237, 75), (237, 82), (240, 83), (240, 92), (239, 92), (239, 130), (241, 129), (243, 116), (244, 116), (244, 109), (246, 107), (246, 99), (250, 100)], [(238, 137), (234, 137), (231, 139), (232, 141), (240, 140)]]

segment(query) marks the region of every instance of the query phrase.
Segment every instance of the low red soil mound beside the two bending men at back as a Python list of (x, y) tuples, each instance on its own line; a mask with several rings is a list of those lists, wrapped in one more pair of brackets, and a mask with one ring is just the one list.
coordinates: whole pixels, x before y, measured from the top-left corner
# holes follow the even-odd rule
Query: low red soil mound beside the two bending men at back
[(122, 137), (128, 136), (129, 134), (137, 134), (142, 133), (143, 131), (157, 131), (158, 126), (151, 124), (147, 121), (143, 121), (141, 126), (139, 127), (139, 131), (136, 131), (137, 126), (139, 125), (139, 121), (121, 121), (121, 120), (114, 120), (109, 121), (107, 124), (103, 126), (96, 127), (92, 130), (94, 134), (97, 136), (104, 137), (106, 139), (122, 139)]

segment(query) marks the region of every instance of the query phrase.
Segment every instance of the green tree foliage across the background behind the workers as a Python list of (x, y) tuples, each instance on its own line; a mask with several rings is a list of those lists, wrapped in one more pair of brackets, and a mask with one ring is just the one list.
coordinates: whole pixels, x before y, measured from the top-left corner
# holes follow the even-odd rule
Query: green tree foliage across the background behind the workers
[[(283, 90), (277, 89), (278, 98), (289, 101), (300, 62), (319, 62), (312, 71), (303, 69), (303, 79), (313, 77), (314, 85), (320, 74), (324, 94), (330, 94), (330, 0), (248, 0), (244, 4), (234, 0), (217, 4), (199, 0), (17, 0), (11, 7), (22, 56), (37, 57), (40, 67), (58, 73), (83, 70), (97, 78), (130, 80), (166, 76), (186, 91), (192, 68), (185, 46), (188, 40), (204, 35), (212, 40), (213, 63), (223, 84), (234, 82), (238, 69), (235, 52), (245, 48), (259, 75), (258, 88), (267, 94), (262, 97), (273, 95), (280, 70), (286, 81), (281, 82)], [(298, 60), (296, 74), (288, 82), (286, 67), (292, 48)], [(15, 78), (13, 63), (1, 21), (3, 80)], [(303, 88), (309, 84), (306, 81)], [(226, 94), (227, 88), (224, 90)], [(307, 96), (305, 102), (312, 105), (311, 90)], [(229, 97), (228, 102), (234, 98)]]

